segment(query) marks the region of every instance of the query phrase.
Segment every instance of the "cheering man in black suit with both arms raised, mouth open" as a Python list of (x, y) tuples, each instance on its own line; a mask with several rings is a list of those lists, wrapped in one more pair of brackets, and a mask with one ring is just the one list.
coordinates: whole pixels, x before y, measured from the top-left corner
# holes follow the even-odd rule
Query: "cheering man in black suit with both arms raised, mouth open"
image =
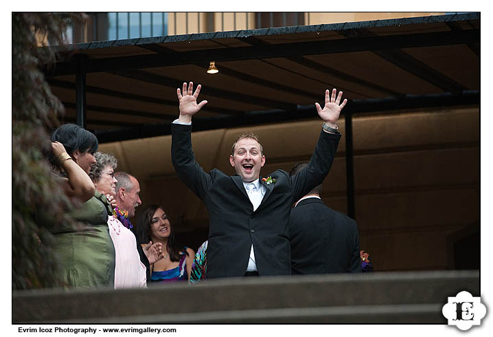
[[(328, 174), (341, 134), (336, 121), (342, 91), (325, 91), (325, 107), (315, 103), (323, 130), (306, 169), (295, 177), (277, 170), (260, 179), (265, 164), (262, 145), (247, 133), (233, 144), (229, 162), (236, 175), (218, 169), (203, 171), (192, 151), (192, 116), (207, 100), (197, 104), (200, 85), (193, 91), (183, 83), (177, 89), (180, 116), (172, 123), (172, 163), (181, 181), (203, 200), (209, 213), (207, 279), (250, 275), (289, 275), (290, 246), (287, 226), (291, 204), (320, 184)], [(248, 191), (248, 192), (247, 192)]]

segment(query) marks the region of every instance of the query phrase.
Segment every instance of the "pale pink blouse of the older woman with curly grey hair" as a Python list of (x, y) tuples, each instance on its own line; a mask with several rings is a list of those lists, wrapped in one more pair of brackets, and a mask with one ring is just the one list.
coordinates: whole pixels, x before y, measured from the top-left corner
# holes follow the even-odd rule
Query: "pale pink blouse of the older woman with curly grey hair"
[(146, 266), (140, 261), (135, 235), (114, 216), (108, 229), (115, 246), (115, 289), (147, 287)]

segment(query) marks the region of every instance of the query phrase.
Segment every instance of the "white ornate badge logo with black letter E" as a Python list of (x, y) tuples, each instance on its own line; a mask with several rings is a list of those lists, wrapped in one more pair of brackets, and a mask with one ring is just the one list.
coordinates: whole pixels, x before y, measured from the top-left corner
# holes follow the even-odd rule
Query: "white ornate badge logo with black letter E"
[(459, 292), (457, 296), (448, 298), (442, 314), (448, 319), (448, 325), (457, 325), (461, 330), (468, 330), (472, 325), (481, 324), (481, 318), (486, 315), (486, 307), (481, 303), (481, 297)]

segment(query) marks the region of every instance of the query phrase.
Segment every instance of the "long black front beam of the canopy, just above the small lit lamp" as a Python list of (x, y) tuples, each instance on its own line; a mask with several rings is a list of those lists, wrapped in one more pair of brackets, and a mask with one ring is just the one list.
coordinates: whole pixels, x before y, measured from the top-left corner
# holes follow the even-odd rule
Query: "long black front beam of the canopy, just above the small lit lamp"
[[(365, 36), (351, 39), (310, 41), (299, 43), (279, 43), (259, 45), (255, 47), (218, 48), (194, 50), (162, 54), (98, 58), (87, 61), (86, 71), (108, 72), (119, 69), (144, 69), (166, 67), (172, 65), (196, 64), (197, 60), (204, 64), (209, 60), (244, 61), (257, 58), (275, 58), (285, 56), (303, 56), (317, 54), (337, 54), (346, 52), (363, 52), (378, 50), (398, 50), (411, 47), (429, 47), (439, 45), (461, 45), (479, 43), (480, 30), (462, 30), (459, 32), (431, 32), (420, 34), (400, 34), (389, 36)], [(75, 74), (76, 65), (73, 62), (58, 63), (54, 72), (47, 76)]]

